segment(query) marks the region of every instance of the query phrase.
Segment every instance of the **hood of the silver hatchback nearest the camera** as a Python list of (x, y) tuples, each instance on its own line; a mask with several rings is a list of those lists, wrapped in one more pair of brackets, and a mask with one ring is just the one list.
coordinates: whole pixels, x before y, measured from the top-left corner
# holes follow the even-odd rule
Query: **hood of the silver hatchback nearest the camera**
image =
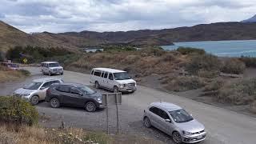
[(190, 122), (176, 123), (176, 125), (181, 130), (185, 130), (185, 131), (190, 132), (190, 133), (196, 133), (196, 132), (205, 130), (205, 126), (203, 126), (202, 123), (198, 122), (195, 119), (190, 121)]

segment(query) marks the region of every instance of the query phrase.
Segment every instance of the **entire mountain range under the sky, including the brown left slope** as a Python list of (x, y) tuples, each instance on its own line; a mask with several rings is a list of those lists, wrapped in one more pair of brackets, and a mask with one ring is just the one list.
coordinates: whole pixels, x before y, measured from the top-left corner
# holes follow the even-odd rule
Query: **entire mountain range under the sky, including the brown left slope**
[(77, 50), (86, 46), (122, 44), (130, 46), (165, 46), (173, 42), (256, 39), (256, 22), (218, 22), (163, 30), (118, 32), (49, 32), (26, 34), (0, 22), (0, 50), (12, 46), (58, 46)]

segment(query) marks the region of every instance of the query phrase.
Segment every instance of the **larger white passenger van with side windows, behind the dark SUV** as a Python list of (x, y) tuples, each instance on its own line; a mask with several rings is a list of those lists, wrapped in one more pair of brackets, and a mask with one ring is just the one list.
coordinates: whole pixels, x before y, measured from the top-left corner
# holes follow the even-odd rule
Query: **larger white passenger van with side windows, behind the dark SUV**
[(95, 84), (96, 88), (113, 90), (114, 93), (137, 90), (136, 82), (123, 70), (94, 68), (90, 73), (90, 83)]

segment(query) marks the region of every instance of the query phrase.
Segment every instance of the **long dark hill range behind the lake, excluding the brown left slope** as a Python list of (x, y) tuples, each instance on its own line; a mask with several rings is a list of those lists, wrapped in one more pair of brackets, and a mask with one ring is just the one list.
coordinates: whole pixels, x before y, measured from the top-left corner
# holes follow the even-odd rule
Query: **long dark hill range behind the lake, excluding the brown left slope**
[(70, 44), (70, 46), (98, 46), (124, 43), (131, 46), (163, 46), (172, 42), (249, 40), (256, 38), (256, 23), (218, 22), (191, 27), (163, 30), (131, 30), (118, 32), (67, 32), (61, 34), (34, 34), (36, 38), (50, 38), (49, 41)]

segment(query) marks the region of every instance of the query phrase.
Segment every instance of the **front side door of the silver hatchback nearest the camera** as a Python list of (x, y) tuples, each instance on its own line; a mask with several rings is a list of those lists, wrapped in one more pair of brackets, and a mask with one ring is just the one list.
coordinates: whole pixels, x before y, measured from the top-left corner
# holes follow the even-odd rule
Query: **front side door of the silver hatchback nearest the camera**
[[(160, 118), (158, 119), (158, 122), (160, 123), (160, 130), (171, 135), (171, 132), (174, 129), (174, 124), (171, 121), (170, 116), (162, 109), (159, 109), (159, 116)], [(170, 120), (170, 122), (166, 122), (166, 119)]]

